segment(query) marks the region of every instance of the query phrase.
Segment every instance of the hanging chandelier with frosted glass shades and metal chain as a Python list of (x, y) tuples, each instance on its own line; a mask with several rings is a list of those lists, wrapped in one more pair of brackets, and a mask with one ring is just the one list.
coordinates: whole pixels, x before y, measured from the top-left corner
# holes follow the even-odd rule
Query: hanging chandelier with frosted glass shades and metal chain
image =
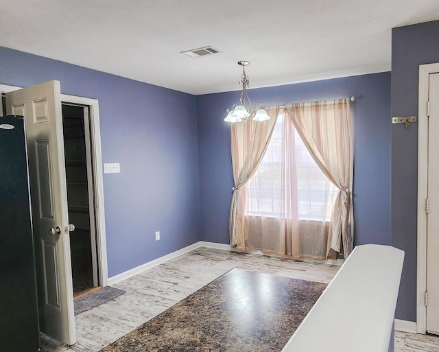
[(241, 122), (248, 119), (253, 119), (254, 121), (265, 121), (269, 120), (267, 112), (262, 108), (261, 103), (256, 103), (252, 107), (250, 98), (247, 94), (247, 88), (249, 86), (249, 80), (246, 75), (246, 66), (250, 64), (248, 61), (238, 61), (238, 64), (242, 66), (242, 75), (239, 84), (242, 84), (241, 97), (239, 102), (233, 105), (231, 108), (226, 110), (227, 116), (224, 121), (227, 122)]

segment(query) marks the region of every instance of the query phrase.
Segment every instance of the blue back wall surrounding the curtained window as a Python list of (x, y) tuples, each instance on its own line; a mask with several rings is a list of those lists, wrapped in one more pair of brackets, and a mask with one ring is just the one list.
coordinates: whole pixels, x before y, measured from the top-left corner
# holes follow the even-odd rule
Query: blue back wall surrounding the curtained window
[[(351, 104), (355, 130), (355, 244), (391, 244), (390, 73), (251, 89), (263, 105), (357, 97)], [(233, 187), (230, 127), (226, 108), (239, 92), (198, 96), (198, 154), (202, 239), (229, 243), (228, 211)]]

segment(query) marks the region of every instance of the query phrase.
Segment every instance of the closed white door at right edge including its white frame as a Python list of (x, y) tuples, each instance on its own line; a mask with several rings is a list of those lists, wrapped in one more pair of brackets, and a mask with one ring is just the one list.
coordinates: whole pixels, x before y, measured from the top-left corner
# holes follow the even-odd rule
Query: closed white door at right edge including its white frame
[(419, 67), (416, 331), (439, 334), (439, 64)]

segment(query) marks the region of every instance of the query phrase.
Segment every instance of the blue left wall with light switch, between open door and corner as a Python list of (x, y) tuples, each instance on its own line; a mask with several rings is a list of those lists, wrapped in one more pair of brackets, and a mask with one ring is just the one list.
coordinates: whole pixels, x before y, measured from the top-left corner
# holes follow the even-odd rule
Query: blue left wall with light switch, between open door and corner
[(195, 96), (4, 47), (0, 68), (2, 84), (99, 99), (102, 159), (121, 163), (104, 174), (109, 277), (200, 240)]

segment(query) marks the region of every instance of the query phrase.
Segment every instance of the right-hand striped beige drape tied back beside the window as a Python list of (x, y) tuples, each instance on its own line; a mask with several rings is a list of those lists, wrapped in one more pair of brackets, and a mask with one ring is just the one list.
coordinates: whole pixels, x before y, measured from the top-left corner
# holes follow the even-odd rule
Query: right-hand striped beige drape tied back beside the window
[(288, 115), (313, 159), (339, 189), (331, 213), (327, 253), (353, 249), (353, 133), (350, 99), (289, 104)]

